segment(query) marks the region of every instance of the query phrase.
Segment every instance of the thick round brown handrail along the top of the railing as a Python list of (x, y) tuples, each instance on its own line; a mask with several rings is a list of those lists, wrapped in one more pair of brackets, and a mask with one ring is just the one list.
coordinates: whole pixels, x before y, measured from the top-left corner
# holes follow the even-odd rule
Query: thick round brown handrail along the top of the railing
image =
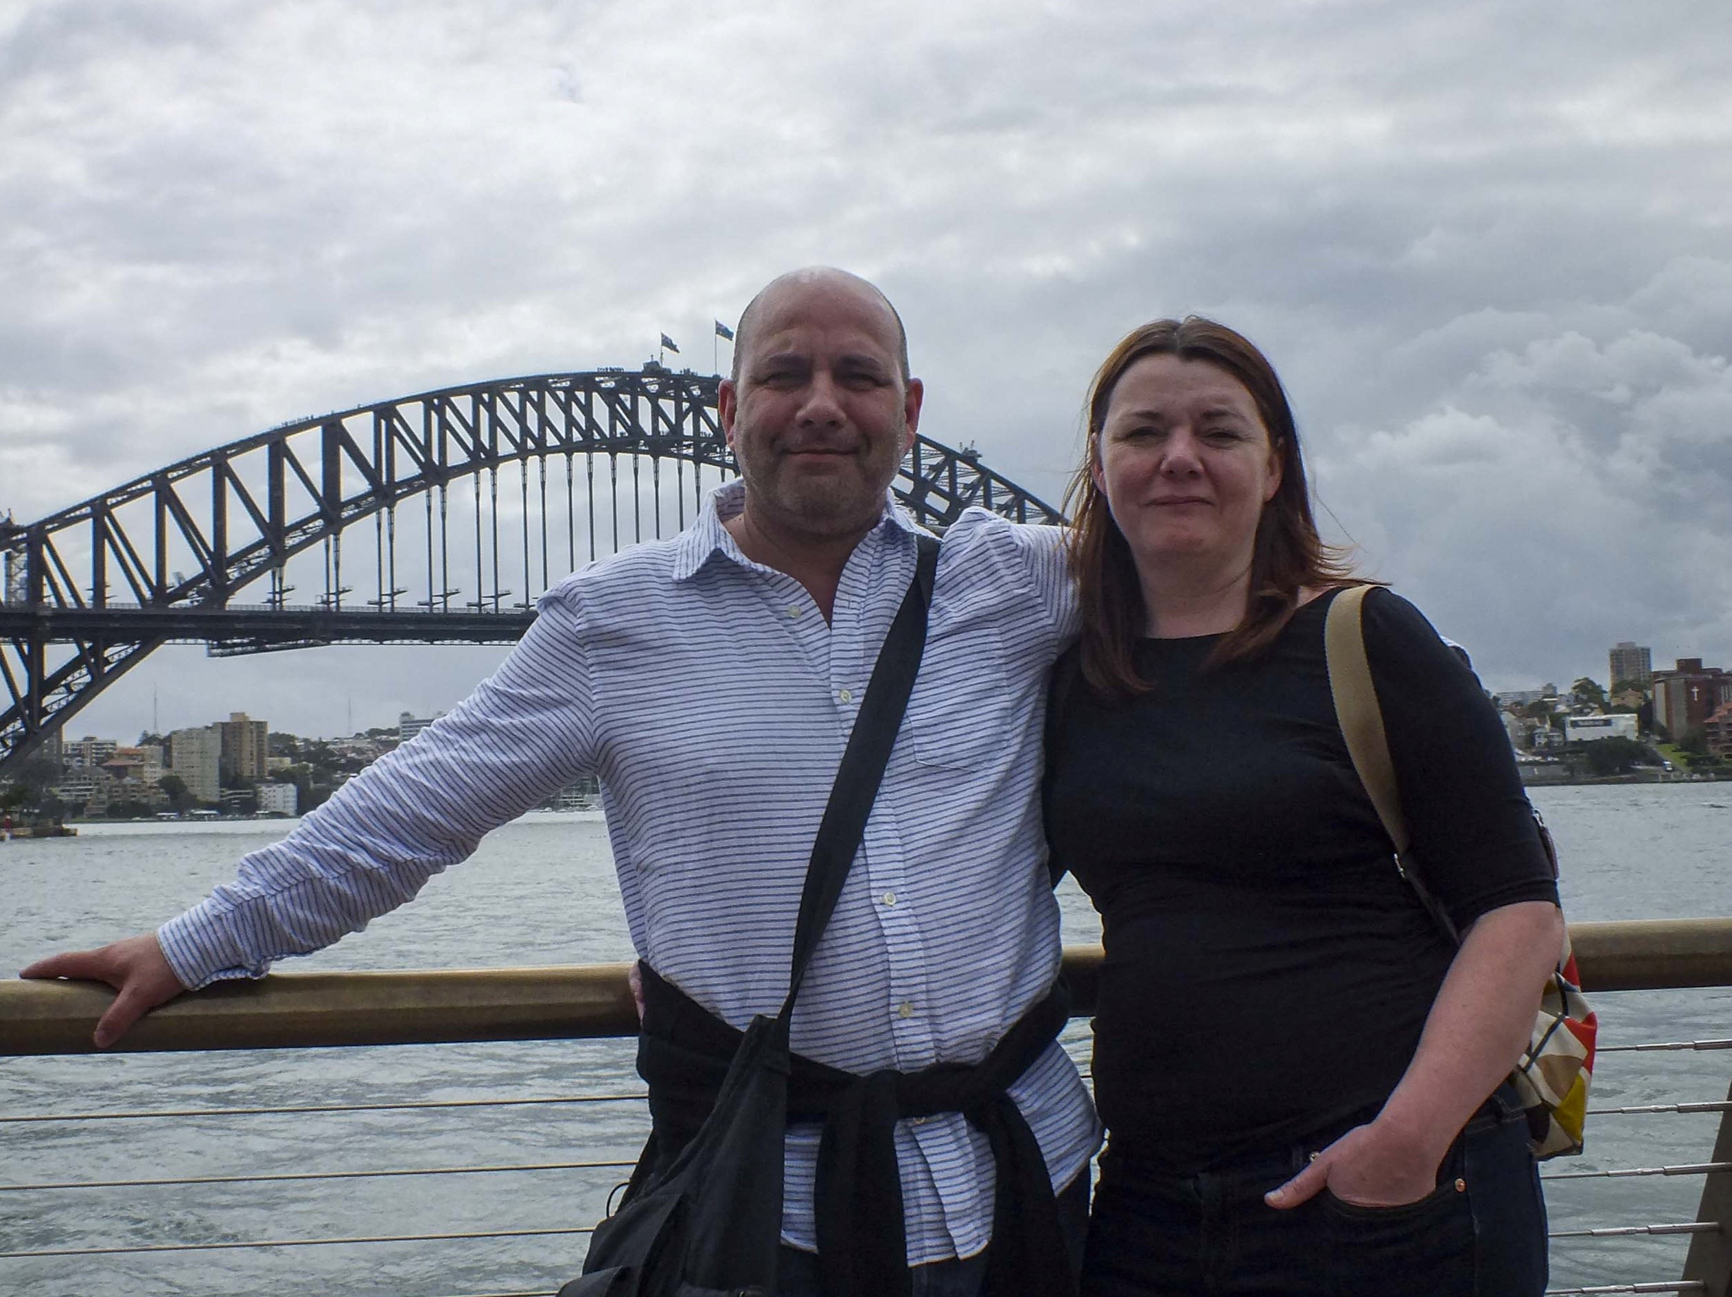
[[(1732, 985), (1732, 918), (1574, 923), (1588, 990)], [(1102, 951), (1072, 945), (1077, 1015), (1095, 1008)], [(165, 1004), (116, 1051), (293, 1049), (630, 1036), (627, 965), (402, 973), (272, 973)], [(90, 1034), (113, 992), (88, 982), (0, 980), (0, 1056), (95, 1053)]]

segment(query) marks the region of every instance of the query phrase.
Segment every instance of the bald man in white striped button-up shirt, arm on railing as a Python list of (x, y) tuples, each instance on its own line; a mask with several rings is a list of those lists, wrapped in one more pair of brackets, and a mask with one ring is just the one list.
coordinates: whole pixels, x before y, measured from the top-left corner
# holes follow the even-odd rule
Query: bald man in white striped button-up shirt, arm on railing
[[(871, 284), (798, 270), (740, 319), (721, 417), (741, 481), (674, 540), (544, 596), (499, 672), (281, 843), (156, 933), (26, 977), (142, 1013), (256, 977), (409, 900), (492, 828), (599, 774), (632, 942), (733, 1027), (774, 1011), (812, 835), (878, 648), (914, 571), (889, 495), (923, 388)], [(852, 1074), (975, 1063), (1057, 973), (1036, 797), (1046, 668), (1070, 634), (1051, 528), (972, 511), (944, 539), (928, 639), (859, 854), (793, 1015), (793, 1049)], [(1044, 1155), (1069, 1242), (1098, 1126), (1055, 1044), (1008, 1089)], [(916, 1292), (980, 1290), (994, 1217), (987, 1141), (961, 1113), (897, 1122)], [(819, 1290), (818, 1127), (788, 1131), (783, 1294)], [(999, 1294), (998, 1297), (1003, 1297)]]

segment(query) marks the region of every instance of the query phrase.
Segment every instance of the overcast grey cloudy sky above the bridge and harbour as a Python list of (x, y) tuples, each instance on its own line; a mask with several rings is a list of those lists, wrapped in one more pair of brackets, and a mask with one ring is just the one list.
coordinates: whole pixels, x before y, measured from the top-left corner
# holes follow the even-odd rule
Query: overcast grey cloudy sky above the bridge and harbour
[[(0, 513), (660, 331), (707, 365), (830, 261), (923, 431), (1050, 499), (1114, 339), (1211, 313), (1488, 684), (1732, 665), (1727, 50), (1725, 0), (0, 0)], [(334, 734), (499, 655), (165, 649), (69, 729)]]

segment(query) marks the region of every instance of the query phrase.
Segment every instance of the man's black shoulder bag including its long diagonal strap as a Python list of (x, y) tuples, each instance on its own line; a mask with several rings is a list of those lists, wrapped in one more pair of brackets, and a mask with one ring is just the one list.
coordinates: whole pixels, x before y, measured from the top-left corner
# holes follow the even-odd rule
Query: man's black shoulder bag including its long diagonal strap
[(788, 997), (757, 1015), (722, 1081), (715, 1108), (660, 1174), (596, 1226), (582, 1278), (559, 1297), (767, 1297), (781, 1243), (783, 1134), (788, 1126), (788, 1025), (805, 968), (842, 895), (866, 817), (914, 689), (939, 542), (918, 537), (914, 580), (873, 667), (812, 842), (793, 930)]

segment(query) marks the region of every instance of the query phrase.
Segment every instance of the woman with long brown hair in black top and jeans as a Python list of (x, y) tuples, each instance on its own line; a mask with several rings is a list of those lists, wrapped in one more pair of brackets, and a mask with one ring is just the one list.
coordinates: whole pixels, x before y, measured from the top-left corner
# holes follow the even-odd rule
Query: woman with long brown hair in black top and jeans
[(1323, 618), (1353, 582), (1268, 360), (1211, 320), (1148, 324), (1088, 417), (1046, 807), (1107, 945), (1084, 1295), (1540, 1294), (1545, 1209), (1500, 1082), (1562, 920), (1503, 727), (1372, 590), (1413, 854), (1457, 949), (1335, 724)]

